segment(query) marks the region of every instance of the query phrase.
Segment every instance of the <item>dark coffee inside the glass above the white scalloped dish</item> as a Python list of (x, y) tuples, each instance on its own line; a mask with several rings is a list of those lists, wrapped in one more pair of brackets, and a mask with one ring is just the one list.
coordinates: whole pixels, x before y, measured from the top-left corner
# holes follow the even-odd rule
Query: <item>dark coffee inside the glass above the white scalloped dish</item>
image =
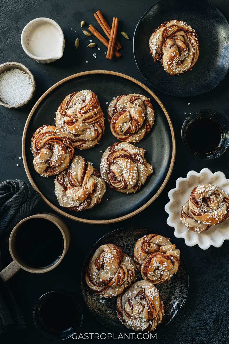
[(199, 117), (187, 127), (185, 140), (194, 152), (206, 154), (219, 147), (221, 136), (222, 128), (215, 119)]

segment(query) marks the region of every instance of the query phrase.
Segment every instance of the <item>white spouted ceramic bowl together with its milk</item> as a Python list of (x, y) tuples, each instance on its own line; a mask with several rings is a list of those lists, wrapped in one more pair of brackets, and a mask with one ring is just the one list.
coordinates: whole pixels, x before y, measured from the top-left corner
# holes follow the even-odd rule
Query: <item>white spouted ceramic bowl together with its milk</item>
[(65, 38), (52, 19), (36, 18), (25, 25), (21, 34), (24, 52), (38, 63), (50, 63), (63, 56)]

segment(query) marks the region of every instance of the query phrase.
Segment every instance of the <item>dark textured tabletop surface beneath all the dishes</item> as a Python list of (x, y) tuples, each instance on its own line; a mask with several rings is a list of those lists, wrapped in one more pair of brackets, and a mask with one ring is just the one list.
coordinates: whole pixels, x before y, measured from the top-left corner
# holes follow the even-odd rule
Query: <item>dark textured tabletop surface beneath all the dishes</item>
[[(17, 61), (25, 64), (37, 82), (37, 92), (31, 104), (21, 110), (11, 110), (1, 107), (0, 135), (0, 179), (20, 178), (27, 180), (23, 168), (21, 154), (21, 138), (25, 120), (35, 101), (44, 91), (58, 80), (68, 75), (90, 69), (110, 69), (133, 76), (144, 82), (134, 62), (132, 39), (135, 26), (141, 15), (155, 1), (70, 1), (70, 0), (8, 0), (1, 1), (0, 11), (0, 63)], [(227, 0), (212, 1), (229, 19)], [(131, 40), (120, 36), (123, 45), (122, 57), (108, 61), (105, 58), (104, 47), (96, 39), (101, 50), (87, 48), (88, 40), (82, 34), (80, 21), (85, 20), (99, 29), (93, 13), (100, 9), (108, 22), (112, 17), (120, 19), (119, 32), (125, 31)], [(66, 47), (61, 60), (49, 65), (42, 65), (31, 60), (23, 51), (20, 43), (21, 31), (25, 24), (36, 17), (49, 17), (56, 20), (64, 31)], [(85, 26), (87, 28), (87, 26)], [(71, 30), (72, 29), (72, 30)], [(154, 29), (154, 28), (152, 28)], [(100, 29), (99, 29), (100, 30)], [(75, 32), (76, 31), (76, 32)], [(214, 35), (214, 32), (212, 32)], [(80, 47), (75, 49), (75, 39), (80, 38)], [(211, 42), (209, 42), (211, 44)], [(88, 60), (88, 64), (86, 64)], [(210, 73), (210, 71), (209, 71)], [(198, 82), (198, 81), (197, 81)], [(18, 333), (1, 335), (1, 343), (50, 343), (33, 327), (32, 311), (37, 299), (45, 292), (54, 289), (65, 289), (75, 293), (83, 309), (81, 332), (107, 333), (109, 329), (101, 326), (92, 318), (85, 307), (80, 290), (80, 272), (83, 260), (93, 243), (112, 229), (129, 226), (146, 226), (149, 232), (159, 232), (169, 236), (171, 241), (180, 248), (186, 261), (190, 288), (183, 309), (170, 324), (157, 331), (157, 343), (227, 343), (228, 342), (228, 249), (229, 241), (220, 248), (210, 247), (204, 251), (198, 246), (188, 247), (183, 239), (174, 238), (173, 229), (166, 224), (167, 214), (164, 205), (168, 202), (168, 191), (175, 185), (178, 177), (185, 177), (187, 172), (194, 169), (200, 171), (208, 167), (213, 172), (222, 171), (229, 178), (229, 150), (213, 161), (201, 161), (191, 156), (181, 142), (181, 126), (186, 115), (202, 108), (217, 110), (229, 119), (228, 114), (228, 82), (229, 75), (214, 90), (207, 94), (192, 98), (174, 98), (153, 91), (159, 96), (172, 119), (177, 142), (176, 161), (171, 178), (164, 191), (145, 211), (134, 218), (113, 225), (86, 225), (68, 221), (71, 231), (71, 246), (61, 264), (53, 271), (33, 275), (23, 270), (19, 271), (8, 282), (9, 287), (27, 323), (27, 329)], [(188, 103), (191, 103), (188, 105)], [(16, 164), (19, 166), (16, 167)], [(43, 201), (36, 212), (52, 212)], [(7, 243), (2, 252), (5, 265), (10, 262)], [(69, 342), (72, 339), (69, 340)], [(120, 340), (119, 342), (122, 342)], [(131, 343), (131, 341), (127, 341)], [(136, 343), (136, 341), (133, 341)], [(145, 341), (147, 342), (147, 341)]]

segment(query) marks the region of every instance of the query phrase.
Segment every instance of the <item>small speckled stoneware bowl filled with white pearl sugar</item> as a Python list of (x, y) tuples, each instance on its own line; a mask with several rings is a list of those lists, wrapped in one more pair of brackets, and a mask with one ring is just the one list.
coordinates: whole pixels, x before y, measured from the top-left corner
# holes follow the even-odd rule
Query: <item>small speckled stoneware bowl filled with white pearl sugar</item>
[(31, 100), (35, 88), (34, 76), (23, 64), (6, 62), (0, 65), (0, 105), (20, 108)]

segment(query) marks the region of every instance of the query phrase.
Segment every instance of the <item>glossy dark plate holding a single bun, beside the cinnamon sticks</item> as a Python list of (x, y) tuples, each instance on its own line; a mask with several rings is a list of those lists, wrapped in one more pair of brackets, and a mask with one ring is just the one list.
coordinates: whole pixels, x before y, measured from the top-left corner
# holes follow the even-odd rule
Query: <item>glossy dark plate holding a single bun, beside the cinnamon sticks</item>
[[(154, 62), (149, 38), (158, 26), (172, 19), (183, 20), (199, 37), (199, 58), (180, 75), (169, 75)], [(206, 0), (162, 0), (140, 19), (134, 34), (134, 56), (141, 75), (160, 92), (172, 96), (195, 96), (216, 87), (229, 69), (229, 24), (224, 15)]]

